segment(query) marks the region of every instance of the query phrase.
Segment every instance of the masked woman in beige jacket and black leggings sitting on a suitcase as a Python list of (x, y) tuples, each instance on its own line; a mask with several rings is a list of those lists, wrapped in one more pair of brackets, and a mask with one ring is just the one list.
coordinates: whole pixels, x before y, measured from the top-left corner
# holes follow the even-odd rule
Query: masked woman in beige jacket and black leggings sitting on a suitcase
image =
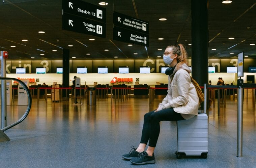
[[(130, 153), (122, 155), (125, 160), (130, 160), (136, 165), (155, 163), (154, 149), (160, 132), (160, 121), (178, 121), (198, 115), (199, 99), (190, 80), (191, 71), (187, 66), (187, 52), (184, 46), (167, 46), (163, 60), (170, 65), (165, 71), (168, 75), (167, 95), (156, 110), (144, 115), (138, 148), (131, 146)], [(145, 150), (147, 143), (148, 148)]]

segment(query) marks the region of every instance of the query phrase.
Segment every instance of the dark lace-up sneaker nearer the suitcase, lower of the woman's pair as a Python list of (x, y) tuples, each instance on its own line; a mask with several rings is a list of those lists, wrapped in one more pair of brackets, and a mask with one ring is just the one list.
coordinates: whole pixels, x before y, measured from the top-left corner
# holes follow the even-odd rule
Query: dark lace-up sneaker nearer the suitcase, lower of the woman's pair
[(145, 165), (155, 163), (155, 156), (148, 156), (147, 152), (144, 151), (138, 155), (138, 157), (131, 159), (130, 162), (135, 165)]

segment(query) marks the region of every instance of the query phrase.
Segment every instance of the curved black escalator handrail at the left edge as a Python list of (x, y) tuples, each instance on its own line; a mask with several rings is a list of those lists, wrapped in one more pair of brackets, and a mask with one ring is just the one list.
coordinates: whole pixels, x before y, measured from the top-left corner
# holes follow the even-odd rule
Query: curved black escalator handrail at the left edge
[(21, 122), (28, 116), (28, 113), (29, 113), (29, 111), (30, 111), (30, 109), (31, 109), (32, 97), (31, 97), (29, 88), (28, 88), (27, 85), (26, 85), (24, 82), (22, 82), (21, 80), (16, 79), (16, 78), (3, 78), (3, 77), (0, 77), (0, 80), (13, 80), (13, 81), (19, 82), (19, 83), (25, 88), (25, 90), (26, 90), (26, 92), (27, 92), (27, 95), (28, 95), (28, 107), (27, 107), (27, 110), (26, 110), (25, 114), (24, 114), (18, 121), (16, 121), (15, 123), (13, 123), (13, 124), (11, 124), (11, 125), (9, 125), (9, 126), (4, 127), (4, 128), (2, 129), (2, 131), (4, 132), (4, 131), (6, 131), (7, 129), (9, 129), (9, 128), (11, 128), (11, 127), (14, 127), (14, 126), (16, 126), (17, 124), (21, 123)]

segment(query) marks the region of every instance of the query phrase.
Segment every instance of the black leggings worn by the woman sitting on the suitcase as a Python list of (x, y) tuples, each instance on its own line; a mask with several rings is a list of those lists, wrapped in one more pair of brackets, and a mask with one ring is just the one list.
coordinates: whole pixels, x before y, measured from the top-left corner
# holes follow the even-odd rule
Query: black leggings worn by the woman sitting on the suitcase
[(173, 108), (149, 112), (144, 115), (144, 123), (140, 143), (155, 147), (160, 133), (160, 121), (184, 120), (180, 113), (176, 113)]

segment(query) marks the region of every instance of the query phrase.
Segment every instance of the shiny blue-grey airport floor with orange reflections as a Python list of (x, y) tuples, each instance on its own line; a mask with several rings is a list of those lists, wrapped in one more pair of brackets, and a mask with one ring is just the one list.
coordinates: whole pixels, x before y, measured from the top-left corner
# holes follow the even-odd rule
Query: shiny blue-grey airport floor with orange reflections
[[(97, 99), (96, 106), (70, 105), (34, 98), (28, 117), (5, 131), (11, 139), (0, 142), (0, 167), (135, 167), (121, 155), (140, 141), (143, 115), (156, 108), (148, 98), (113, 102)], [(243, 157), (236, 157), (237, 102), (209, 109), (207, 159), (176, 159), (176, 122), (161, 122), (155, 149), (156, 163), (140, 167), (256, 167), (256, 114), (252, 99), (244, 102)], [(7, 106), (7, 124), (23, 115), (26, 107)]]

